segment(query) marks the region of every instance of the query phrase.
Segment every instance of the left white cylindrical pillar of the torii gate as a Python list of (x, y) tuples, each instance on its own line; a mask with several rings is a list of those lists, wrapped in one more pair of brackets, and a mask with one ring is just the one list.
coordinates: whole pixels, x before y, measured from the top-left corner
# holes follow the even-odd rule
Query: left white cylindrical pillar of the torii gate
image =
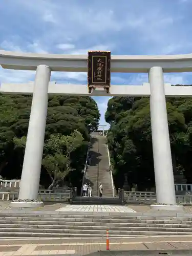
[[(36, 70), (31, 114), (25, 148), (25, 156), (20, 182), (19, 199), (38, 198), (42, 151), (44, 148), (45, 127), (48, 108), (48, 87), (51, 71), (45, 65), (39, 65)], [(36, 207), (35, 203), (12, 202), (15, 206)], [(42, 204), (42, 203), (41, 203)]]

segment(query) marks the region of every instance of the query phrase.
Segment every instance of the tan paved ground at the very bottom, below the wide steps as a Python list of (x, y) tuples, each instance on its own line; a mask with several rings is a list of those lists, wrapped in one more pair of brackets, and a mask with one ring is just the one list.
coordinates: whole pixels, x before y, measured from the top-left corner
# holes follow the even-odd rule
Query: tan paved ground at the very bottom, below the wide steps
[[(188, 250), (192, 254), (192, 237), (145, 237), (110, 239), (110, 251)], [(87, 255), (106, 251), (105, 239), (33, 239), (0, 240), (0, 256), (75, 254)], [(98, 253), (99, 255), (99, 253)]]

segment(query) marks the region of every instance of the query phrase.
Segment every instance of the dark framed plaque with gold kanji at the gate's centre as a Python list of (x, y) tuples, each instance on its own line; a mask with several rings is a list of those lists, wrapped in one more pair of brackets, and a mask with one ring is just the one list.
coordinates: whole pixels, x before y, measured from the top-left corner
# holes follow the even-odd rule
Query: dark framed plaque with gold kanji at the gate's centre
[(111, 81), (111, 52), (88, 52), (88, 87), (109, 88)]

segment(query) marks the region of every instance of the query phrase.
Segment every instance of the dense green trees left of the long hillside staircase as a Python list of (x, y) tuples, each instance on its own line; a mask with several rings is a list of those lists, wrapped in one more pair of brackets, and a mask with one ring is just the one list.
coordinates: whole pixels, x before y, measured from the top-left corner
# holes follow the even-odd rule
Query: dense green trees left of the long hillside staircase
[[(0, 94), (0, 173), (7, 179), (22, 173), (31, 101), (29, 95)], [(97, 130), (99, 117), (91, 97), (49, 97), (41, 185), (49, 187), (58, 177), (80, 185), (90, 132)]]

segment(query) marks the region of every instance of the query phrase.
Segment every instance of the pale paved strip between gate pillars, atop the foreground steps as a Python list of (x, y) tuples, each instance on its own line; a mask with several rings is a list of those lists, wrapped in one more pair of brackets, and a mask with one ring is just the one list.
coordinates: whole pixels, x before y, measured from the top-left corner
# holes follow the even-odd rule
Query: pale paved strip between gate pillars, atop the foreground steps
[(126, 206), (117, 205), (66, 205), (57, 211), (80, 211), (80, 212), (136, 212)]

